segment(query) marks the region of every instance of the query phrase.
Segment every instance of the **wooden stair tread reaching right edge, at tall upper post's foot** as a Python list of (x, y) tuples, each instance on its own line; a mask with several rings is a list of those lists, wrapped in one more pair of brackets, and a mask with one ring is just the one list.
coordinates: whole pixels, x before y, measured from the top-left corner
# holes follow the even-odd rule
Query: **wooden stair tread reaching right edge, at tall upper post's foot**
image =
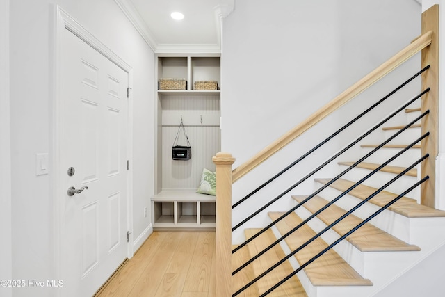
[[(315, 179), (316, 182), (321, 184), (327, 184), (331, 179)], [(348, 188), (353, 186), (355, 182), (350, 182), (346, 179), (337, 179), (336, 182), (331, 184), (332, 188), (335, 188), (339, 191), (346, 191)], [(355, 196), (359, 199), (366, 199), (377, 191), (377, 188), (373, 188), (371, 186), (365, 186), (360, 184), (352, 191), (349, 192), (350, 195)], [(378, 205), (379, 207), (385, 206), (388, 202), (396, 198), (398, 195), (395, 193), (391, 193), (388, 191), (381, 191), (377, 195), (375, 195), (370, 203)], [(442, 217), (445, 216), (445, 211), (441, 211), (438, 209), (433, 209), (431, 207), (427, 207), (425, 205), (417, 204), (417, 201), (412, 198), (402, 197), (396, 203), (392, 204), (388, 207), (389, 210), (396, 212), (397, 214), (401, 214), (402, 216), (406, 216), (408, 218), (426, 218), (426, 217)]]

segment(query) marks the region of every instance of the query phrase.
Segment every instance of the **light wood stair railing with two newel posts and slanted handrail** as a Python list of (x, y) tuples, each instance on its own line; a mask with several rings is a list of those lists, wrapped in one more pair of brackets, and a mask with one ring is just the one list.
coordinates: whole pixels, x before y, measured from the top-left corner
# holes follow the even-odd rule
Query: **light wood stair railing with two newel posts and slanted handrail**
[[(437, 93), (438, 93), (438, 15), (439, 9), (438, 6), (432, 6), (429, 10), (422, 14), (422, 35), (416, 40), (413, 40), (410, 45), (405, 47), (399, 51), (396, 55), (390, 58), (388, 61), (377, 67), (375, 70), (370, 72), (366, 77), (357, 81), (353, 86), (345, 90), (339, 96), (335, 97), (331, 102), (325, 104), (321, 109), (313, 113), (309, 118), (301, 122), (299, 125), (291, 129), (289, 132), (284, 134), (282, 137), (278, 138), (276, 141), (268, 145), (264, 150), (261, 150), (258, 154), (253, 156), (250, 160), (243, 163), (238, 168), (232, 171), (232, 164), (235, 159), (231, 154), (220, 152), (213, 157), (213, 162), (216, 164), (216, 176), (217, 176), (217, 184), (216, 184), (216, 292), (218, 297), (227, 297), (232, 296), (232, 183), (236, 182), (238, 179), (243, 177), (246, 173), (250, 172), (253, 168), (257, 167), (259, 164), (264, 162), (270, 156), (275, 154), (275, 152), (279, 151), (285, 145), (288, 145), (295, 138), (303, 134), (309, 128), (316, 125), (318, 122), (323, 120), (327, 115), (330, 115), (339, 107), (346, 104), (351, 99), (362, 93), (366, 88), (372, 86), (375, 82), (385, 77), (389, 72), (396, 69), (399, 65), (403, 64), (409, 58), (417, 54), (419, 51), (422, 51), (422, 65), (425, 67), (426, 65), (433, 65), (434, 70), (428, 71), (427, 74), (422, 75), (422, 85), (423, 89), (428, 88), (428, 86), (432, 86), (432, 94), (423, 97), (422, 111), (423, 115), (426, 115), (426, 111), (428, 112), (434, 111), (435, 115), (424, 117), (422, 120), (422, 129), (427, 129), (427, 133), (429, 134), (429, 129), (434, 130), (432, 134), (433, 136), (428, 136), (428, 134), (423, 133), (422, 140), (422, 154), (425, 150), (432, 150), (435, 156), (435, 146), (437, 145), (437, 131), (435, 129), (437, 122)], [(431, 46), (430, 46), (431, 45)], [(431, 93), (431, 92), (428, 92)], [(426, 98), (432, 98), (426, 100)], [(425, 104), (424, 102), (432, 102)], [(432, 107), (432, 108), (430, 108)], [(427, 112), (427, 113), (428, 113)], [(424, 147), (426, 147), (424, 149)], [(423, 154), (421, 160), (425, 159), (428, 156), (428, 152)], [(431, 161), (432, 159), (432, 161)], [(419, 160), (418, 162), (420, 162)], [(385, 207), (380, 209), (373, 214), (373, 216), (377, 215), (391, 204), (396, 202), (398, 199), (403, 197), (406, 193), (412, 190), (418, 184), (422, 184), (428, 179), (428, 176), (434, 177), (434, 173), (431, 174), (431, 171), (434, 172), (434, 158), (429, 158), (428, 166), (422, 166), (422, 175), (425, 176), (421, 181), (417, 182), (414, 186), (409, 188), (407, 191), (399, 195), (397, 198), (389, 202)], [(415, 165), (413, 165), (414, 167)], [(411, 166), (410, 166), (411, 167)], [(432, 179), (432, 190), (424, 187), (422, 189), (422, 193), (434, 193), (434, 179)], [(386, 185), (385, 185), (386, 186)], [(371, 198), (369, 198), (371, 199)], [(423, 201), (422, 201), (423, 202)], [(426, 202), (426, 204), (431, 202)], [(372, 216), (372, 217), (373, 217)], [(367, 218), (364, 220), (364, 223), (371, 220)], [(363, 223), (363, 224), (364, 224)], [(360, 225), (361, 226), (361, 225)], [(357, 226), (356, 228), (360, 227)], [(356, 229), (354, 228), (354, 229)], [(353, 230), (341, 236), (341, 239), (346, 238)], [(338, 241), (338, 242), (339, 242)], [(337, 244), (337, 241), (332, 243), (330, 247)], [(327, 249), (328, 249), (327, 248)], [(326, 249), (326, 250), (327, 250)], [(316, 257), (319, 257), (323, 254), (322, 251)], [(314, 258), (316, 258), (314, 257)], [(314, 259), (309, 260), (309, 262), (314, 261)], [(308, 265), (304, 264), (304, 265)], [(304, 267), (298, 268), (300, 271)], [(277, 286), (279, 286), (282, 282), (291, 278), (292, 275), (295, 275), (298, 271), (294, 271), (287, 278), (282, 280), (280, 283), (276, 284), (274, 287), (270, 288), (267, 292), (265, 292), (261, 296), (266, 296), (273, 291)], [(233, 295), (235, 296), (235, 295)]]

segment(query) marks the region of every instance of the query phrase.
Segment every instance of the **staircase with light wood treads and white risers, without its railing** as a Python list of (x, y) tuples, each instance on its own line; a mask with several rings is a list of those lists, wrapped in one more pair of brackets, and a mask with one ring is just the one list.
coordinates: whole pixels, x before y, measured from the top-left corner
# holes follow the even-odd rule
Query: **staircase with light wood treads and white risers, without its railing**
[[(407, 121), (411, 121), (421, 114), (420, 109), (406, 109)], [(403, 124), (403, 123), (401, 123)], [(401, 126), (383, 127), (381, 133), (385, 138), (391, 136)], [(390, 163), (382, 167), (379, 172), (369, 181), (355, 187), (348, 194), (344, 195), (336, 203), (330, 205), (323, 211), (318, 211), (328, 204), (332, 199), (345, 192), (359, 179), (371, 170), (378, 168), (382, 162), (389, 159), (396, 151), (407, 146), (421, 134), (420, 124), (415, 124), (407, 129), (391, 145), (385, 145), (380, 152), (373, 156), (371, 162), (362, 162), (350, 170), (347, 175), (336, 182), (330, 184), (322, 193), (314, 196), (299, 207), (296, 211), (286, 216), (276, 223), (269, 230), (248, 243), (232, 255), (232, 266), (236, 268), (244, 264), (261, 250), (280, 239), (281, 236), (290, 232), (293, 227), (302, 225), (302, 222), (311, 216), (316, 216), (302, 225), (298, 230), (292, 232), (280, 244), (276, 244), (246, 266), (243, 271), (236, 273), (233, 277), (234, 292), (238, 291), (245, 284), (253, 280), (264, 271), (268, 270), (275, 263), (289, 255), (291, 251), (298, 250), (309, 239), (314, 238), (328, 225), (346, 214), (346, 211), (368, 198), (383, 185), (387, 180), (387, 175), (392, 177), (401, 174), (406, 166), (412, 163), (412, 157), (419, 159), (421, 152), (420, 145), (410, 148), (407, 155), (402, 155), (394, 160), (396, 165)], [(397, 141), (398, 142), (397, 142)], [(403, 141), (404, 143), (400, 143)], [(374, 144), (364, 143), (360, 145), (364, 154)], [(346, 157), (346, 156), (345, 156)], [(344, 158), (344, 157), (343, 157)], [(383, 158), (379, 160), (378, 158)], [(339, 168), (343, 170), (345, 166), (352, 166), (356, 160), (345, 160), (339, 162)], [(300, 249), (280, 266), (273, 269), (264, 278), (254, 282), (248, 290), (243, 291), (238, 296), (261, 296), (270, 287), (289, 275), (292, 271), (305, 264), (319, 252), (327, 248), (330, 243), (338, 240), (346, 232), (363, 222), (365, 218), (373, 212), (385, 206), (389, 201), (398, 196), (407, 188), (407, 184), (412, 185), (419, 180), (419, 170), (412, 168), (405, 170), (405, 175), (398, 179), (397, 184), (392, 185), (394, 193), (391, 191), (381, 191), (369, 202), (346, 216), (331, 230), (323, 233), (305, 248)], [(379, 177), (385, 175), (385, 177)], [(330, 182), (330, 178), (316, 178), (314, 182), (319, 186)], [(412, 194), (412, 193), (409, 193)], [(419, 195), (414, 191), (414, 195)], [(283, 199), (292, 200), (295, 204), (303, 202), (308, 195), (289, 195)], [(321, 257), (318, 257), (311, 264), (306, 266), (289, 280), (286, 280), (280, 287), (273, 290), (268, 296), (374, 296), (379, 291), (385, 291), (385, 287), (403, 273), (415, 269), (415, 264), (430, 255), (445, 242), (445, 211), (440, 211), (419, 204), (420, 198), (410, 198), (404, 196), (382, 211), (369, 223), (364, 223), (355, 232), (346, 236), (334, 248), (327, 250)], [(269, 212), (270, 221), (277, 220), (284, 214), (283, 212)], [(259, 232), (259, 229), (245, 229), (246, 239)], [(241, 259), (242, 258), (242, 259)]]

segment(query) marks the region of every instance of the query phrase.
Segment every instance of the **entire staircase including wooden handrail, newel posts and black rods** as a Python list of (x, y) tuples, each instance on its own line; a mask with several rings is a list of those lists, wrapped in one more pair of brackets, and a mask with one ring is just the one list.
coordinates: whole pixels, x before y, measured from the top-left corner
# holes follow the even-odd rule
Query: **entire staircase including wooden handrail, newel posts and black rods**
[[(445, 211), (432, 208), (439, 201), (435, 188), (438, 16), (437, 5), (423, 12), (419, 38), (234, 170), (231, 154), (220, 152), (213, 157), (217, 297), (443, 296), (442, 280), (437, 276), (445, 266)], [(421, 71), (232, 204), (234, 182), (420, 51)], [(412, 99), (380, 122), (366, 120), (369, 130), (346, 147), (335, 147), (339, 152), (334, 156), (314, 157), (318, 158), (314, 165), (307, 166), (310, 172), (299, 172), (303, 177), (280, 195), (265, 204), (255, 199), (262, 188), (420, 75), (421, 93), (411, 94)], [(421, 109), (412, 107), (414, 102)], [(403, 111), (405, 115), (400, 116)], [(375, 137), (376, 133), (380, 135)], [(375, 139), (385, 141), (373, 143)], [(327, 160), (319, 164), (319, 158)], [(319, 176), (327, 165), (338, 166), (339, 175)], [(334, 172), (329, 169), (325, 172)], [(439, 173), (441, 170), (438, 168)], [(316, 191), (301, 193), (298, 186), (307, 182)], [(264, 197), (269, 199), (267, 193)], [(248, 199), (248, 204), (239, 207)], [(274, 204), (278, 200), (280, 204)], [(236, 207), (243, 218), (234, 225), (232, 209)], [(257, 215), (261, 218), (252, 223)], [(245, 227), (248, 222), (254, 229)], [(232, 246), (232, 232), (241, 227), (245, 241)]]

